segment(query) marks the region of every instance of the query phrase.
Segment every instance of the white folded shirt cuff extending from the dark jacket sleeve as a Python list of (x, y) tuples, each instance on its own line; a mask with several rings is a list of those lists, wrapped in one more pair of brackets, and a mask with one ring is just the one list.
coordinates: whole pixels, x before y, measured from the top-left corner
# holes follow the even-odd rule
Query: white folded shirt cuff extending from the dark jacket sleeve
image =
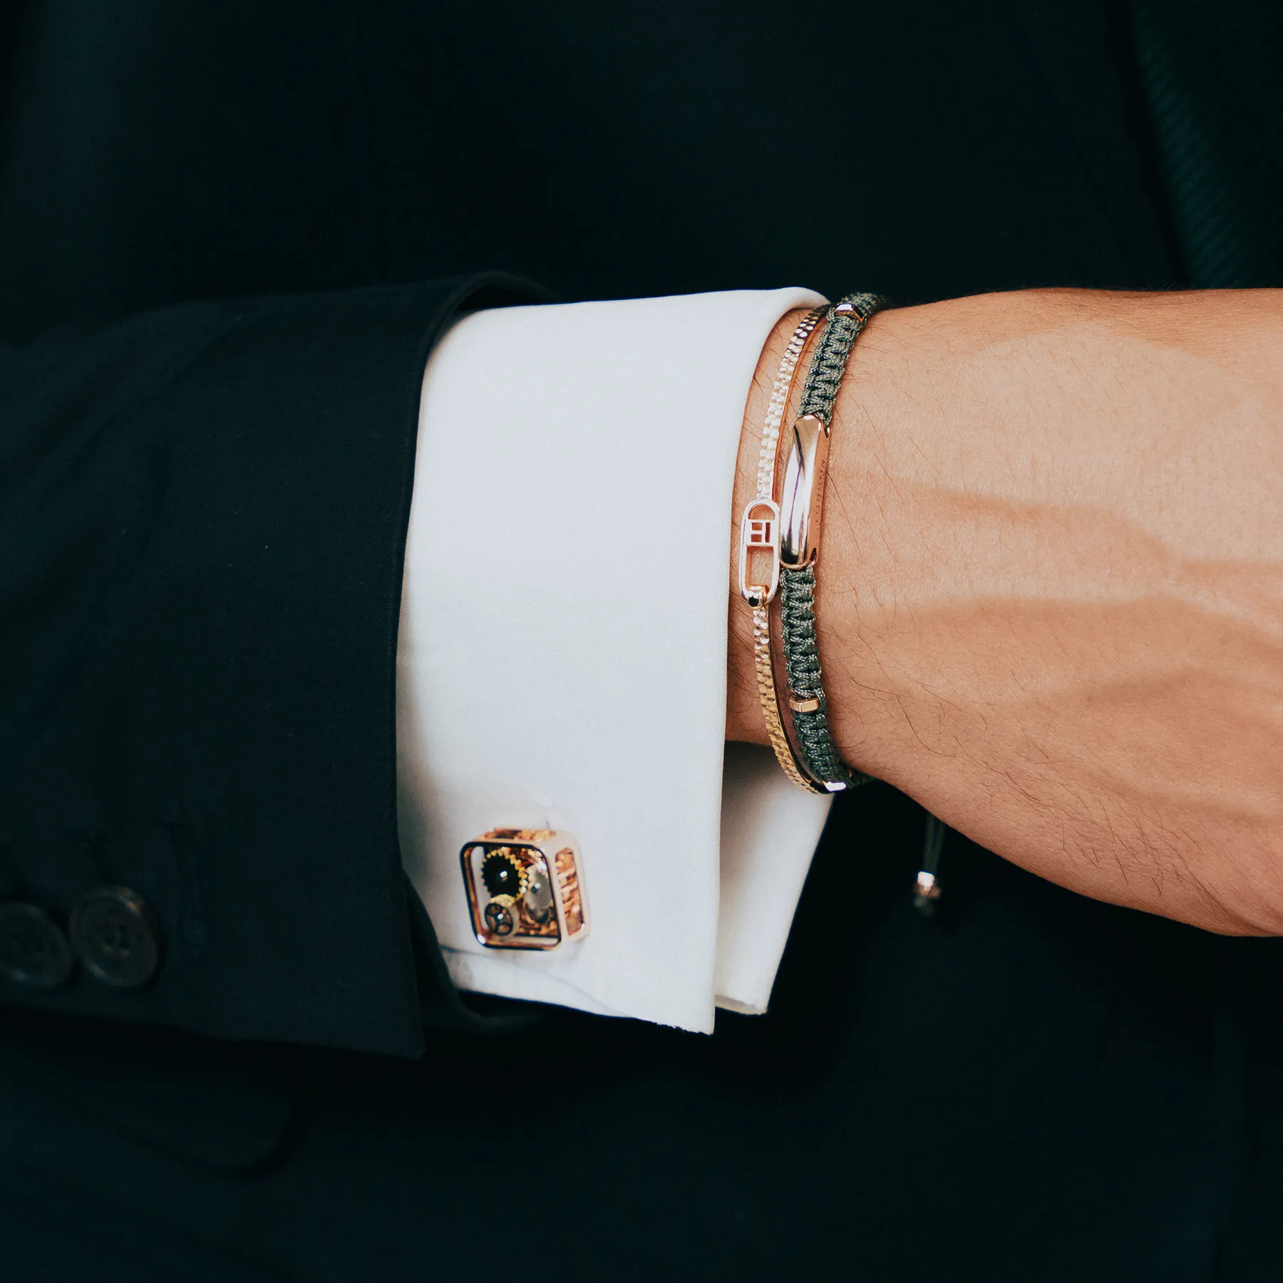
[[(396, 683), (407, 871), (464, 989), (762, 1011), (829, 798), (725, 751), (744, 402), (799, 289), (479, 312), (423, 380)], [(591, 930), (488, 949), (459, 848), (574, 833)]]

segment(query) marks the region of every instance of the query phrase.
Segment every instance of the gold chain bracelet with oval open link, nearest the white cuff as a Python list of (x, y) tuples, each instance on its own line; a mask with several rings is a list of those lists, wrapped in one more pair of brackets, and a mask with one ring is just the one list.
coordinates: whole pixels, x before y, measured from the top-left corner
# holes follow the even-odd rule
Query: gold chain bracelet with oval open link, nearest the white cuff
[[(762, 426), (762, 446), (757, 461), (757, 493), (745, 504), (739, 525), (739, 591), (753, 612), (753, 665), (757, 670), (757, 694), (762, 702), (766, 734), (770, 736), (771, 748), (775, 749), (775, 757), (784, 774), (807, 793), (825, 793), (828, 790), (822, 784), (811, 779), (801, 758), (793, 751), (784, 730), (780, 690), (775, 683), (771, 602), (780, 585), (780, 506), (775, 498), (775, 472), (780, 423), (784, 421), (784, 411), (793, 389), (793, 376), (797, 373), (807, 340), (824, 319), (826, 312), (826, 308), (808, 312), (798, 322), (793, 337), (780, 358), (780, 368), (775, 376), (771, 399), (766, 407), (766, 421)], [(770, 559), (770, 574), (766, 582), (760, 582), (753, 572), (754, 561), (758, 558)]]

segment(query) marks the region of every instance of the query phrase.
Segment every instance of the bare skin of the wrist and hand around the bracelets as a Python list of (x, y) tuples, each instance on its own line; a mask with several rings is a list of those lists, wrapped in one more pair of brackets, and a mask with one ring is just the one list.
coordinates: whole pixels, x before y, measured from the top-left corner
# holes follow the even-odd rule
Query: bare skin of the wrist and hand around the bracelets
[[(726, 734), (754, 743), (738, 518), (799, 316), (763, 350), (736, 475)], [(816, 567), (843, 756), (1071, 890), (1283, 934), (1280, 495), (1283, 290), (879, 314)]]

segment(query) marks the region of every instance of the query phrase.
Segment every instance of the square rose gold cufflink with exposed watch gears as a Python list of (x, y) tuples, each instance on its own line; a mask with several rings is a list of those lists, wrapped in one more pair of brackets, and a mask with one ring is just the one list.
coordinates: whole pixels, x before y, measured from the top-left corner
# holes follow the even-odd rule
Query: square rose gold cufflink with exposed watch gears
[(459, 852), (477, 940), (554, 949), (588, 933), (579, 843), (557, 829), (491, 829)]

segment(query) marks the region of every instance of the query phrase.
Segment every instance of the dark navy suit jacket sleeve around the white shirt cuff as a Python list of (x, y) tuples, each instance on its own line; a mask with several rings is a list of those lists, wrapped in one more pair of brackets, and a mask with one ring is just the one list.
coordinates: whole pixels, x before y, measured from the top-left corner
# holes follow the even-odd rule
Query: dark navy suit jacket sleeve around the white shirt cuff
[(0, 1001), (421, 1049), (394, 747), (420, 385), (461, 307), (527, 298), (199, 303), (0, 349), (0, 901), (74, 939), (127, 888), (158, 946), (144, 984), (82, 958), (41, 987), (23, 919)]

